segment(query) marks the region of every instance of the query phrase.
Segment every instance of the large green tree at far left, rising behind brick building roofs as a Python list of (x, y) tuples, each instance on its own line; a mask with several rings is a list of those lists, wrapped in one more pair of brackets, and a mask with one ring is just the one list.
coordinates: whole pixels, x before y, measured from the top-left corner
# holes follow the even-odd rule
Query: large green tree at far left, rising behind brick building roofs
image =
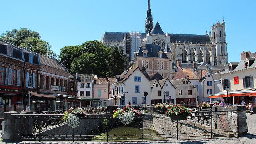
[(2, 33), (1, 40), (5, 40), (19, 47), (26, 47), (36, 53), (46, 55), (48, 57), (56, 57), (56, 54), (51, 50), (50, 44), (43, 41), (39, 32), (31, 31), (28, 28), (13, 29)]

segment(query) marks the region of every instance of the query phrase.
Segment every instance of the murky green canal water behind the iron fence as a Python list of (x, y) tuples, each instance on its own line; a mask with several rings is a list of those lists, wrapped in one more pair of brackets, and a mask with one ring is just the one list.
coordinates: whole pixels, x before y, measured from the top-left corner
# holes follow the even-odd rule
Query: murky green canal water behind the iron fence
[[(156, 134), (153, 130), (143, 129), (143, 140), (163, 140), (160, 135)], [(94, 140), (107, 140), (107, 133), (102, 133), (93, 137)], [(108, 140), (116, 141), (116, 140), (142, 140), (142, 129), (141, 128), (133, 128), (133, 127), (117, 127), (110, 131), (108, 131)]]

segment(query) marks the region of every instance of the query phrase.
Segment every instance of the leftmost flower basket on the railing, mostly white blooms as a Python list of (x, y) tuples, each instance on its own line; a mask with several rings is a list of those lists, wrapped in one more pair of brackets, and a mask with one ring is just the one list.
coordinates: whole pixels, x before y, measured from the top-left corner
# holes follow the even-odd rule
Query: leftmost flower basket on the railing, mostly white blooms
[(63, 121), (68, 123), (71, 128), (79, 126), (80, 119), (85, 117), (86, 113), (81, 108), (70, 108), (64, 113)]

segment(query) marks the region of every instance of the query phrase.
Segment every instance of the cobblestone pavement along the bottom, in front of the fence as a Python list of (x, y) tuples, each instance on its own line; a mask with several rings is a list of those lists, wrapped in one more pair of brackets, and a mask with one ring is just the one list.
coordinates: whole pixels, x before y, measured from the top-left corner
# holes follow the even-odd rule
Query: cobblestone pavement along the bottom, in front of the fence
[(256, 115), (247, 114), (247, 126), (249, 131), (246, 135), (237, 138), (214, 138), (198, 140), (171, 140), (150, 142), (1, 142), (0, 144), (256, 144)]

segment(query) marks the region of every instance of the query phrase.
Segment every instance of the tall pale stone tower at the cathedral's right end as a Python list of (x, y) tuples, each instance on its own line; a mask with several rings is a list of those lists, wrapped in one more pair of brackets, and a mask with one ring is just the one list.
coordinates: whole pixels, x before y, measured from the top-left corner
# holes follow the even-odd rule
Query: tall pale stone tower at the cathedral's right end
[(215, 51), (214, 64), (228, 65), (228, 52), (226, 43), (226, 25), (224, 19), (222, 23), (217, 22), (212, 26), (212, 44)]

